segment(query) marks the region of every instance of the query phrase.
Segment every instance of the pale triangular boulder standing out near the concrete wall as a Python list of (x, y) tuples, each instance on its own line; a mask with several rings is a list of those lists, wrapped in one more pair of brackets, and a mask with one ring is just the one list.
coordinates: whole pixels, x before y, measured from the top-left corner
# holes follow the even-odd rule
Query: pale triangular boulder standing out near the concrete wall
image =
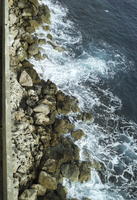
[(26, 71), (23, 71), (21, 73), (19, 83), (22, 86), (26, 86), (26, 87), (32, 87), (33, 86), (32, 79)]

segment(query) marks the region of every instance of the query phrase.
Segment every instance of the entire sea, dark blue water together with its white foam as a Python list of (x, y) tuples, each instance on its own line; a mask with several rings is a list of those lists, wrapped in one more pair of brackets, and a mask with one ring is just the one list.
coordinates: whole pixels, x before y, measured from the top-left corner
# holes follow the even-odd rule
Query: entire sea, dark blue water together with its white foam
[(137, 200), (137, 1), (43, 1), (52, 11), (51, 34), (66, 51), (46, 44), (49, 59), (33, 64), (93, 114), (90, 123), (69, 117), (86, 134), (76, 143), (81, 160), (103, 166), (91, 170), (88, 183), (65, 182), (69, 197)]

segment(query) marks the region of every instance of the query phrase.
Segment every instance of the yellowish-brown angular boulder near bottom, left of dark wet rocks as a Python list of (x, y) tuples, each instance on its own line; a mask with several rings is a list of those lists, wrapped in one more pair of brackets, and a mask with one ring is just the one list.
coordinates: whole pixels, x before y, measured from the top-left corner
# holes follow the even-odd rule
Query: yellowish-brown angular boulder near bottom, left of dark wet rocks
[(54, 177), (52, 177), (50, 174), (47, 174), (44, 171), (40, 172), (39, 175), (39, 183), (49, 190), (56, 190), (57, 189), (57, 181)]

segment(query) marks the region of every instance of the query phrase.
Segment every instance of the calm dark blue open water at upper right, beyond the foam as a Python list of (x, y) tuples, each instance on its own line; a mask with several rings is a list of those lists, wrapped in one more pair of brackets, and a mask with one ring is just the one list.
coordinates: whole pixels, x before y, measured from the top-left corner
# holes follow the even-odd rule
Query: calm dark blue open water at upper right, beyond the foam
[(131, 70), (117, 73), (105, 83), (122, 100), (121, 115), (137, 122), (137, 1), (60, 1), (69, 9), (68, 18), (82, 33), (85, 49), (91, 43), (104, 49), (103, 41), (125, 55)]

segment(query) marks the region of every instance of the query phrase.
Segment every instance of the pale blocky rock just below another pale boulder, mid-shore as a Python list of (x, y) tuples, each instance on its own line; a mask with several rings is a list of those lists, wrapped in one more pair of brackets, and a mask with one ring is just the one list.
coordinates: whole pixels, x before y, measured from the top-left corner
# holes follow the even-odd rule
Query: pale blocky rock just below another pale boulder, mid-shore
[(48, 125), (50, 119), (49, 117), (47, 117), (47, 115), (45, 115), (44, 113), (37, 113), (35, 114), (35, 123), (37, 125)]

